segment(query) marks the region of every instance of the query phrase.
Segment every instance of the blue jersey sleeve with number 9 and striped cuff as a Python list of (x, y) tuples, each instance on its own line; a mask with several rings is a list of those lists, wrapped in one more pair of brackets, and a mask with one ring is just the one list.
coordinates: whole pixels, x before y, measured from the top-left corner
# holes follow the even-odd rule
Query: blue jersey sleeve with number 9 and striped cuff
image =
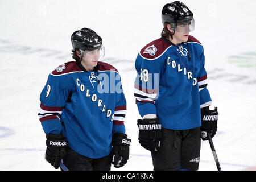
[(60, 121), (70, 90), (65, 88), (63, 77), (49, 75), (40, 94), (39, 120), (44, 133), (60, 134), (63, 126)]

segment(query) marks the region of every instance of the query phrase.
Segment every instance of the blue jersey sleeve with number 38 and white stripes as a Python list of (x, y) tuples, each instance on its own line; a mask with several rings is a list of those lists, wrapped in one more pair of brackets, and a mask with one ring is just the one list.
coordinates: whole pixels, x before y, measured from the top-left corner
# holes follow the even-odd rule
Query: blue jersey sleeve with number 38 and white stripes
[(134, 82), (134, 97), (139, 114), (156, 115), (155, 100), (158, 98), (160, 75), (162, 64), (159, 58), (145, 59), (139, 53), (135, 61), (137, 77)]

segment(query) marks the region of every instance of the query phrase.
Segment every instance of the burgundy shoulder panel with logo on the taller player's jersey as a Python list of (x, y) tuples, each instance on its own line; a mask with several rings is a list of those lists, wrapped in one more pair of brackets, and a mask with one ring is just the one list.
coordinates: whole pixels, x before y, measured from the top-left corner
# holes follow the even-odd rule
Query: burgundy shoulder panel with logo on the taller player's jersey
[(170, 46), (172, 45), (168, 44), (167, 42), (164, 42), (162, 39), (156, 39), (151, 43), (147, 44), (146, 46), (144, 46), (139, 52), (139, 54), (144, 59), (153, 60), (161, 56)]

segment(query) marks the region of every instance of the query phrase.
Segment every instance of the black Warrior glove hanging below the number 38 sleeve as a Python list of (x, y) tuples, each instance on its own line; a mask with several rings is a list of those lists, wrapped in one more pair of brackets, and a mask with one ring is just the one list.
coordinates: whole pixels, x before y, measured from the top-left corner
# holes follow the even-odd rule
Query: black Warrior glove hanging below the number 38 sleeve
[(151, 152), (157, 152), (160, 148), (161, 124), (159, 119), (138, 119), (139, 143)]

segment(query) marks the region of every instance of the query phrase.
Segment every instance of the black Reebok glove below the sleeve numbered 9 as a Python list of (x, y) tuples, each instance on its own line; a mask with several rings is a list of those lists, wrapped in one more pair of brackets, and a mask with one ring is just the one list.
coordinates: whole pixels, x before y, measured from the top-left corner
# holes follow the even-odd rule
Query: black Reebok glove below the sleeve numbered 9
[(60, 161), (65, 157), (67, 140), (62, 134), (46, 135), (46, 156), (45, 159), (54, 166), (55, 169), (60, 167)]

